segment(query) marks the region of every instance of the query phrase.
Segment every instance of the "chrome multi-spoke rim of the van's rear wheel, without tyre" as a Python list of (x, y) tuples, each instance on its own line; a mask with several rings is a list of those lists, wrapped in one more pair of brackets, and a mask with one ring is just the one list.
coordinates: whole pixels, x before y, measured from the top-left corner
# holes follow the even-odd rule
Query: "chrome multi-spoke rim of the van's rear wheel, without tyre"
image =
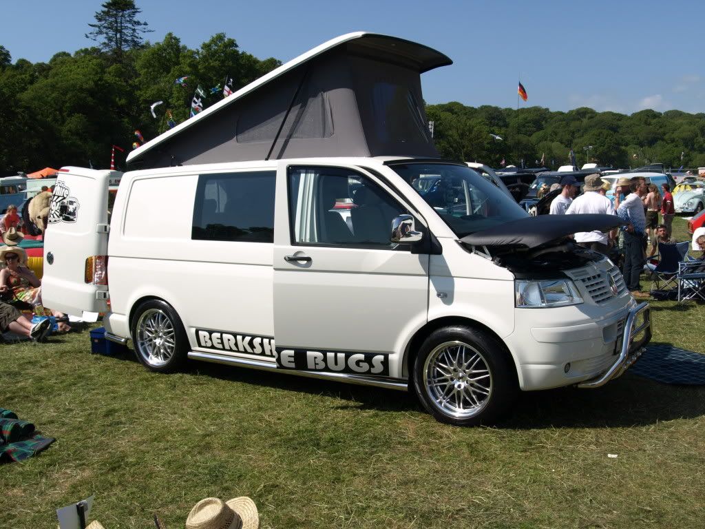
[(166, 365), (176, 351), (174, 326), (164, 312), (148, 309), (137, 320), (135, 348), (152, 367)]

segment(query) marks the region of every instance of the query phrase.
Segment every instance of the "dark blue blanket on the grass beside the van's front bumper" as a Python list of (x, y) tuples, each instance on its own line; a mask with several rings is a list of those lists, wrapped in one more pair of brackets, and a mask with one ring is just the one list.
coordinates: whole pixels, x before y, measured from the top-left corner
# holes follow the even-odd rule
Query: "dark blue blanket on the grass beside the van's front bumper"
[(705, 385), (705, 355), (651, 343), (628, 372), (664, 384)]

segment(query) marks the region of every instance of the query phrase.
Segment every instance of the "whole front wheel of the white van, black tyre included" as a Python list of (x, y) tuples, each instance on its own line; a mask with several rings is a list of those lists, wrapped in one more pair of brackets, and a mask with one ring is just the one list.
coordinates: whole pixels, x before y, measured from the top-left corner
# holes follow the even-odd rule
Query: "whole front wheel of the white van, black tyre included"
[(413, 377), (424, 408), (455, 426), (491, 425), (517, 396), (515, 368), (503, 343), (470, 327), (432, 332), (419, 348)]

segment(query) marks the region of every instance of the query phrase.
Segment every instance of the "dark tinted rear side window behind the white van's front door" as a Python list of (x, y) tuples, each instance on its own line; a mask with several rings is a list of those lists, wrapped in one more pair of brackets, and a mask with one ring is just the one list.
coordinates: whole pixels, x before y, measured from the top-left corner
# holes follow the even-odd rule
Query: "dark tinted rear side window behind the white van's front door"
[(198, 177), (191, 238), (274, 243), (275, 171)]

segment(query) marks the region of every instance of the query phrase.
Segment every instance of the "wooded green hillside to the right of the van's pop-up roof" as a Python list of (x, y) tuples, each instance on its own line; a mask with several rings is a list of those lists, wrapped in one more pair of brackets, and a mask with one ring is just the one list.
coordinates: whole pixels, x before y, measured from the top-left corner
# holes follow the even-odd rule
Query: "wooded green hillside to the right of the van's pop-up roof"
[[(572, 149), (579, 166), (628, 168), (652, 163), (678, 168), (705, 166), (705, 114), (680, 110), (642, 110), (630, 116), (587, 107), (568, 112), (542, 107), (501, 109), (458, 102), (427, 105), (434, 140), (443, 157), (556, 169), (570, 164)], [(495, 138), (498, 136), (500, 139)], [(587, 147), (587, 148), (586, 148)]]

